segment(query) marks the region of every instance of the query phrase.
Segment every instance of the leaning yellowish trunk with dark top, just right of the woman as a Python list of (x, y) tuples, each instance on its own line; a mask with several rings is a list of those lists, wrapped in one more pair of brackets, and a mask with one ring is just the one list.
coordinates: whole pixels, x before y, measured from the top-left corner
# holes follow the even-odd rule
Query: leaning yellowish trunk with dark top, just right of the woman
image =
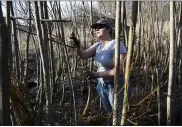
[(133, 56), (133, 46), (135, 38), (135, 27), (138, 14), (138, 2), (132, 2), (132, 21), (129, 30), (129, 42), (128, 42), (128, 53), (126, 57), (126, 73), (125, 73), (125, 84), (124, 84), (124, 100), (123, 100), (123, 111), (122, 111), (122, 120), (121, 125), (125, 125), (127, 117), (127, 108), (128, 108), (128, 89), (129, 89), (129, 77), (131, 71), (131, 63)]

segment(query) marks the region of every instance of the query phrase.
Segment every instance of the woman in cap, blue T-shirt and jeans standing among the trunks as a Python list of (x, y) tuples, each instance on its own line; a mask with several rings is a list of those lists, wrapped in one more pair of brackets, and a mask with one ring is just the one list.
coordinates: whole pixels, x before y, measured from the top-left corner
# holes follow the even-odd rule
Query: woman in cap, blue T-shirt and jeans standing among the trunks
[[(96, 36), (99, 38), (99, 42), (96, 42), (90, 48), (83, 50), (80, 46), (80, 41), (72, 34), (70, 37), (77, 48), (77, 54), (82, 59), (94, 57), (95, 65), (98, 67), (97, 72), (90, 72), (89, 76), (97, 78), (97, 92), (99, 93), (103, 106), (110, 114), (113, 111), (114, 106), (114, 53), (115, 53), (115, 40), (112, 39), (112, 23), (109, 20), (101, 19), (97, 23), (93, 24), (91, 28), (95, 29)], [(127, 51), (123, 43), (120, 43), (120, 74), (121, 83), (119, 88), (122, 88), (124, 84), (124, 59)], [(123, 92), (120, 92), (118, 97), (119, 102), (119, 114), (122, 111)], [(121, 116), (120, 116), (121, 117)]]

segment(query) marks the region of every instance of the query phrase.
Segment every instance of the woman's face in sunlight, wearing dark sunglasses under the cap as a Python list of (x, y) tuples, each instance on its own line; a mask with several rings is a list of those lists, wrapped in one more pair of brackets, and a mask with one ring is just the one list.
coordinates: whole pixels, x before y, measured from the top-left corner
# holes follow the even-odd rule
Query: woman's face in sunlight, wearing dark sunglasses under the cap
[(107, 28), (105, 25), (99, 25), (95, 28), (96, 37), (100, 39), (105, 39), (110, 36), (110, 29)]

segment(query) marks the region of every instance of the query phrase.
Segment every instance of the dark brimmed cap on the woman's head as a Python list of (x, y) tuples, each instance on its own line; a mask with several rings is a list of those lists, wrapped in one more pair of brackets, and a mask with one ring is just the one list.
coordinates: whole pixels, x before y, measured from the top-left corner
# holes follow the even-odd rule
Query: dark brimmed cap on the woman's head
[(108, 26), (109, 28), (113, 29), (113, 24), (110, 20), (107, 20), (107, 19), (100, 19), (99, 21), (97, 21), (97, 23), (95, 24), (92, 24), (91, 25), (91, 28), (96, 28), (97, 26), (99, 25), (106, 25)]

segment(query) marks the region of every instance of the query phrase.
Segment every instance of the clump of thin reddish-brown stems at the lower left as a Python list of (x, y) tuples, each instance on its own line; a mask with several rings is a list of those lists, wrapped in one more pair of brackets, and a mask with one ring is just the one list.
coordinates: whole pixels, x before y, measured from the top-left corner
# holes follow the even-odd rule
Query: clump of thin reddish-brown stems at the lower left
[(10, 105), (15, 115), (17, 125), (32, 125), (33, 123), (33, 100), (29, 96), (23, 84), (11, 76)]

